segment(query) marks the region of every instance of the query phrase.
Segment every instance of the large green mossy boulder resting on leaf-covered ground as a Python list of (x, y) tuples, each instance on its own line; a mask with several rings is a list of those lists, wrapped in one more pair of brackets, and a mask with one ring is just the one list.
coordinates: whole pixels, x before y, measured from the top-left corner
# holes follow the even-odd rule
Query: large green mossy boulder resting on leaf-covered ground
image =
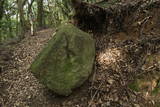
[(58, 28), (31, 65), (42, 84), (59, 95), (69, 95), (88, 79), (95, 58), (92, 37), (71, 24)]

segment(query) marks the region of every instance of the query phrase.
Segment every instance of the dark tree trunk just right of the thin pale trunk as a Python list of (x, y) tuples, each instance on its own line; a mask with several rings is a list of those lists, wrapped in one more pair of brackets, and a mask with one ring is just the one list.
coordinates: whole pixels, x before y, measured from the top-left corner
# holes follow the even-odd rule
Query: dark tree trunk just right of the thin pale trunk
[(43, 23), (43, 0), (37, 0), (37, 8), (38, 8), (38, 14), (37, 14), (37, 21), (38, 21), (38, 27), (43, 28), (44, 23)]

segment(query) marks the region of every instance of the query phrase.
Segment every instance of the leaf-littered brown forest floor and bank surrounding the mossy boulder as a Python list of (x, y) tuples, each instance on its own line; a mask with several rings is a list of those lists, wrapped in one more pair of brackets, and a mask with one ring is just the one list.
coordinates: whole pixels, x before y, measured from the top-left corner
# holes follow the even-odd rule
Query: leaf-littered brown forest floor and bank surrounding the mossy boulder
[[(160, 15), (156, 12), (147, 13), (153, 17), (142, 29), (133, 26), (127, 32), (94, 35), (94, 72), (68, 97), (54, 94), (29, 71), (56, 31), (41, 30), (4, 49), (1, 46), (0, 59), (4, 62), (0, 60), (0, 107), (159, 107), (160, 23), (155, 19)], [(137, 22), (145, 17), (140, 16)], [(142, 79), (139, 84), (143, 87), (136, 91), (137, 79)]]

